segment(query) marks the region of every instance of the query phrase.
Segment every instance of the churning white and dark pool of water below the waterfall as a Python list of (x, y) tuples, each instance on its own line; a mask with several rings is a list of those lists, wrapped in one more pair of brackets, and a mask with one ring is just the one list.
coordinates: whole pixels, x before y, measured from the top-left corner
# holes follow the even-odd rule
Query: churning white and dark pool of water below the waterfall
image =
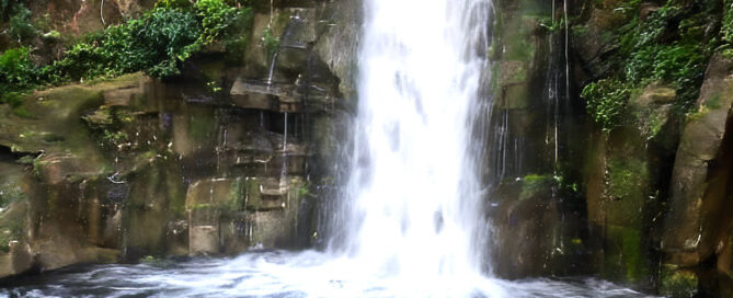
[(320, 252), (72, 266), (0, 282), (0, 297), (652, 297), (593, 278), (392, 276)]

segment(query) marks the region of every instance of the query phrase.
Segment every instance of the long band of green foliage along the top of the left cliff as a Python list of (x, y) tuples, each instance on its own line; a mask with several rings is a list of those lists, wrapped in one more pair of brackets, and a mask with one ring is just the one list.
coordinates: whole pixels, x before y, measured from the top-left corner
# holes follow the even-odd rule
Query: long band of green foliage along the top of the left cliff
[[(13, 3), (0, 0), (0, 9), (7, 11), (7, 5)], [(13, 18), (24, 20), (19, 24), (30, 25), (30, 11), (21, 7), (24, 10)], [(0, 56), (0, 103), (19, 107), (23, 94), (46, 84), (136, 71), (170, 78), (180, 73), (182, 61), (216, 41), (224, 41), (227, 49), (243, 51), (251, 26), (250, 8), (234, 8), (224, 0), (199, 0), (195, 4), (188, 0), (161, 0), (140, 19), (83, 37), (61, 59), (45, 67), (31, 62), (27, 48), (7, 50)], [(19, 38), (35, 34), (32, 27), (22, 26), (11, 32)], [(58, 37), (58, 33), (49, 34), (49, 38)]]

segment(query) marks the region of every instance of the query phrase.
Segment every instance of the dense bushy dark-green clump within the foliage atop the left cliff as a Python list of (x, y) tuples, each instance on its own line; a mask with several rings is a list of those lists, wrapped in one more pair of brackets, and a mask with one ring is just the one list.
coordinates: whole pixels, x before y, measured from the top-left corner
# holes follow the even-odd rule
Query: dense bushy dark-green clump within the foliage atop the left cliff
[(179, 74), (201, 35), (193, 13), (158, 8), (101, 34), (88, 36), (48, 68), (50, 82), (114, 77), (146, 71), (158, 78)]

